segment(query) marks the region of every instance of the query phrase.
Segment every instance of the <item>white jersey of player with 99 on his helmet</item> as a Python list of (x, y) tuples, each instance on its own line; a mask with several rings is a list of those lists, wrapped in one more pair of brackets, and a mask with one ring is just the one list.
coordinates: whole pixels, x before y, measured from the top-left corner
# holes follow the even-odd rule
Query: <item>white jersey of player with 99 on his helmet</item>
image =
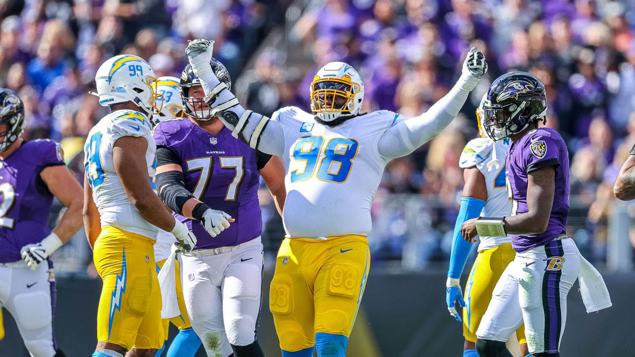
[[(112, 146), (118, 138), (144, 137), (148, 141), (145, 162), (152, 189), (156, 190), (156, 144), (152, 138), (152, 125), (144, 114), (137, 111), (115, 111), (93, 126), (84, 145), (84, 168), (93, 189), (93, 201), (97, 205), (102, 227), (114, 226), (124, 231), (156, 239), (157, 227), (141, 217), (132, 205), (112, 162)], [(144, 180), (143, 177), (139, 177)]]

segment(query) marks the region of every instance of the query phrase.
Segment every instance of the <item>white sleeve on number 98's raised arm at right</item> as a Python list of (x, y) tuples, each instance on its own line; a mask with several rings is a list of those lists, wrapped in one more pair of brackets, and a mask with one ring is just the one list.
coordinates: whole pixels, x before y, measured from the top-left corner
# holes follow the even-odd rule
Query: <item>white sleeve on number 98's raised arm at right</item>
[(401, 121), (386, 130), (377, 143), (379, 154), (387, 161), (401, 158), (439, 135), (457, 116), (476, 83), (478, 78), (469, 74), (462, 75), (450, 93), (432, 105), (427, 112)]

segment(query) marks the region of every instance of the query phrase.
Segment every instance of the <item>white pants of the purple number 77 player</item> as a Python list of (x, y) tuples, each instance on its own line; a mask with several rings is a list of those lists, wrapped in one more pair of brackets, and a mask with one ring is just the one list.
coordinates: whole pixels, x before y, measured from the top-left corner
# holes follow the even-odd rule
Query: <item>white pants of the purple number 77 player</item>
[(262, 295), (260, 237), (241, 245), (178, 255), (187, 314), (208, 356), (229, 356), (230, 344), (256, 337)]

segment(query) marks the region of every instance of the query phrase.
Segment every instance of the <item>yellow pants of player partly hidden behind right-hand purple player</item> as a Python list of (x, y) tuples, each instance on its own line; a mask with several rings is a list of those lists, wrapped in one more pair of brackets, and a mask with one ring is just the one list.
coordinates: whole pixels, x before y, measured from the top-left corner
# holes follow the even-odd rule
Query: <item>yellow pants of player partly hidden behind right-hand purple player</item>
[[(503, 243), (488, 250), (479, 251), (465, 285), (463, 308), (463, 336), (476, 342), (476, 330), (491, 300), (491, 292), (505, 268), (516, 257), (512, 243)], [(526, 344), (525, 325), (516, 330), (519, 344)]]

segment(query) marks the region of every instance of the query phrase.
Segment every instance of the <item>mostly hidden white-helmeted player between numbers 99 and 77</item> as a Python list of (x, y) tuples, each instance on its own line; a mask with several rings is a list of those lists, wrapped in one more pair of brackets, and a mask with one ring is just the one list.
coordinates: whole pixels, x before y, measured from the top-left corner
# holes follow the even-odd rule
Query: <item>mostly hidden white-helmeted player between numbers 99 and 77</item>
[[(161, 108), (161, 112), (152, 115), (152, 122), (157, 125), (161, 121), (170, 120), (173, 118), (182, 118), (183, 102), (181, 95), (178, 91), (179, 79), (177, 77), (163, 76), (158, 77), (154, 83), (157, 94), (162, 96), (157, 100), (157, 107)], [(154, 131), (154, 130), (153, 130)], [(175, 239), (169, 232), (159, 229), (157, 233), (157, 241), (154, 244), (154, 259), (156, 260), (157, 273), (163, 267), (166, 260), (170, 256), (170, 251)], [(180, 309), (179, 316), (171, 319), (163, 319), (163, 333), (164, 340), (168, 340), (168, 327), (170, 322), (178, 328), (178, 335), (174, 337), (170, 347), (166, 350), (165, 344), (157, 351), (154, 357), (161, 357), (163, 351), (166, 351), (166, 357), (194, 357), (196, 351), (201, 347), (201, 339), (196, 335), (192, 329), (192, 323), (187, 316), (187, 310), (185, 309), (185, 299), (183, 299), (183, 288), (181, 286), (181, 274), (180, 264), (178, 260), (175, 261), (175, 287), (177, 290), (178, 307)]]

